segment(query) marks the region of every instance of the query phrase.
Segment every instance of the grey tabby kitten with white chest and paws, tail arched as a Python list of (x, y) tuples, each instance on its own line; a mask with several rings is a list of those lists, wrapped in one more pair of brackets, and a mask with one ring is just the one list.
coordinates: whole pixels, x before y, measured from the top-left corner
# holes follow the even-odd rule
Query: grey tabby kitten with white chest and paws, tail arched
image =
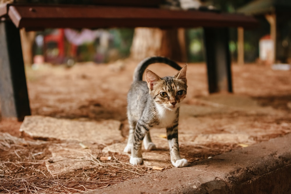
[[(143, 72), (152, 63), (166, 63), (179, 70), (174, 76), (160, 78), (150, 70)], [(166, 127), (170, 147), (171, 162), (175, 167), (187, 165), (186, 159), (181, 159), (178, 143), (178, 120), (181, 101), (187, 93), (187, 64), (181, 68), (174, 61), (165, 57), (149, 57), (136, 67), (133, 83), (127, 94), (127, 118), (129, 122), (128, 142), (124, 152), (131, 153), (130, 163), (143, 163), (141, 146), (146, 150), (156, 146), (150, 138), (150, 128)]]

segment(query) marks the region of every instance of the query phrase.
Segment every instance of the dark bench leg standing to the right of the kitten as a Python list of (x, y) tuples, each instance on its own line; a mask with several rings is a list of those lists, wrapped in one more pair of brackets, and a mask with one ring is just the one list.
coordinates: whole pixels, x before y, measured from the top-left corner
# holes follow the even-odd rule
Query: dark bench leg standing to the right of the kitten
[(204, 28), (209, 93), (233, 92), (228, 28)]

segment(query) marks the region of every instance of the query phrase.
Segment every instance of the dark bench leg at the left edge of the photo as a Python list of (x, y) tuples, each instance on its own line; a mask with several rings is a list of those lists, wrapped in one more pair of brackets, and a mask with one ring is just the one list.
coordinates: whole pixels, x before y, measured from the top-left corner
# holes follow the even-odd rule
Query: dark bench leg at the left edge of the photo
[(21, 121), (31, 113), (19, 29), (9, 20), (0, 22), (0, 48), (1, 115)]

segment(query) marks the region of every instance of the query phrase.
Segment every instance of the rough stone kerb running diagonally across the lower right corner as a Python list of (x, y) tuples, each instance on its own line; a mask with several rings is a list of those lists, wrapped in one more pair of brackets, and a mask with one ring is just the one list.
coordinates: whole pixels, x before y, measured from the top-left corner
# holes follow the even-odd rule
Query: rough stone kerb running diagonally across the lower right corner
[(290, 193), (290, 174), (287, 134), (90, 193)]

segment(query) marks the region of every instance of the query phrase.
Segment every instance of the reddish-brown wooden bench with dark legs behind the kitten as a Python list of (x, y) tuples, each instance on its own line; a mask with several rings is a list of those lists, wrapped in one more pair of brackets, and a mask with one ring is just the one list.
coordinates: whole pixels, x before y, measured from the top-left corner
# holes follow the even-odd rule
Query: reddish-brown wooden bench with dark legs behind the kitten
[(254, 28), (241, 14), (117, 6), (4, 4), (0, 6), (0, 99), (3, 117), (30, 115), (19, 29), (203, 27), (209, 92), (232, 92), (228, 28)]

